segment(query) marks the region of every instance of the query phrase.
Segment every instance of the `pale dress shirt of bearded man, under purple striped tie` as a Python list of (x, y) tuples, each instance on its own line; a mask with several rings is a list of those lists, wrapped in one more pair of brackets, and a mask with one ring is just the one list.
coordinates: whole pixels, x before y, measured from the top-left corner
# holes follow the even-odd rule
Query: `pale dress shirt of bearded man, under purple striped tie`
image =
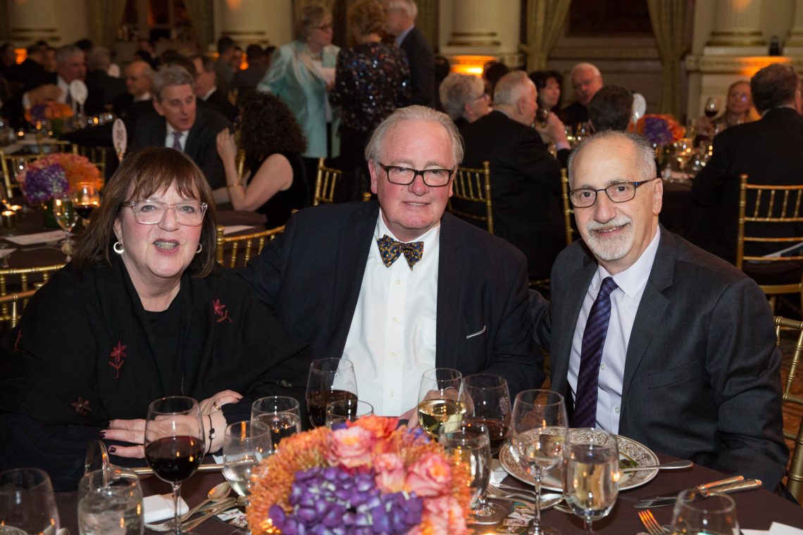
[[(650, 278), (658, 252), (658, 241), (661, 229), (656, 229), (650, 245), (644, 249), (628, 269), (613, 275), (613, 282), (618, 288), (610, 294), (610, 321), (605, 346), (602, 348), (602, 359), (597, 382), (597, 429), (602, 428), (609, 433), (619, 432), (619, 415), (622, 407), (622, 383), (625, 377), (625, 359), (630, 332), (636, 319), (638, 304), (642, 301), (647, 279)], [(583, 332), (588, 321), (593, 302), (597, 300), (602, 281), (611, 276), (608, 270), (599, 265), (585, 294), (585, 300), (577, 317), (572, 339), (572, 353), (569, 356), (569, 387), (573, 398), (577, 398), (577, 374), (580, 372), (580, 352), (583, 346)]]

